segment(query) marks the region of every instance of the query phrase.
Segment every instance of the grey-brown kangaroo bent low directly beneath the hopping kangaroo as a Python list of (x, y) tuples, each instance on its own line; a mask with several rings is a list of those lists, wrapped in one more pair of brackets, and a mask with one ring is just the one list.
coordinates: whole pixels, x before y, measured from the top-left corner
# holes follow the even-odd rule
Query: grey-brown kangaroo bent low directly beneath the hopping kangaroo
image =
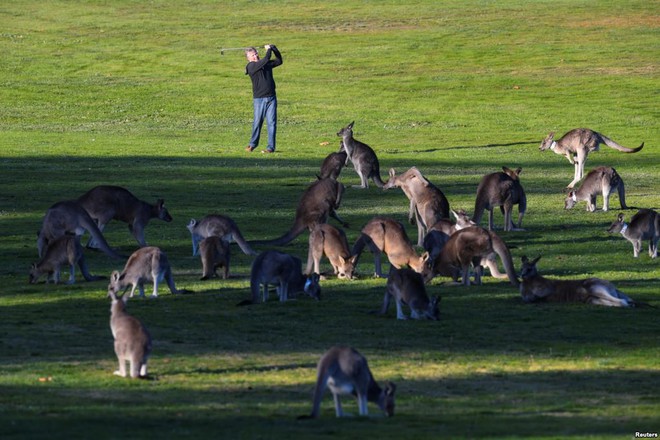
[(571, 209), (577, 202), (586, 201), (587, 211), (596, 210), (596, 196), (603, 195), (603, 211), (610, 207), (610, 194), (614, 189), (619, 193), (619, 203), (621, 209), (628, 209), (626, 206), (626, 189), (623, 179), (619, 173), (612, 167), (598, 167), (589, 171), (582, 184), (575, 191), (569, 191), (564, 201), (564, 209)]

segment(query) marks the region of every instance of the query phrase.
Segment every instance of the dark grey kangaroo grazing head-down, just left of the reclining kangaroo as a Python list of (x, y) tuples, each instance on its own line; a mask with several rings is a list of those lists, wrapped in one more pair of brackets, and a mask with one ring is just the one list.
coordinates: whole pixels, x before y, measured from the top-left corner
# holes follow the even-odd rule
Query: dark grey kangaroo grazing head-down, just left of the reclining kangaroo
[(440, 299), (437, 296), (429, 299), (424, 286), (424, 278), (412, 269), (390, 267), (387, 290), (380, 311), (382, 315), (387, 313), (391, 299), (394, 299), (396, 303), (396, 319), (408, 319), (403, 313), (403, 304), (410, 307), (410, 317), (413, 319), (424, 318), (437, 321), (440, 317), (438, 309)]

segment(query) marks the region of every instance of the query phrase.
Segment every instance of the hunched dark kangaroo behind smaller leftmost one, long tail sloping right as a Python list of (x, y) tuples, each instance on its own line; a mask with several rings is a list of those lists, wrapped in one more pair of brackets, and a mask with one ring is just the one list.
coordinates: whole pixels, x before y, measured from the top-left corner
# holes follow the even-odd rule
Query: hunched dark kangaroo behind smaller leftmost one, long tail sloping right
[(85, 231), (99, 244), (99, 249), (107, 255), (123, 259), (124, 257), (111, 249), (108, 242), (105, 241), (103, 233), (87, 211), (75, 200), (67, 200), (55, 203), (48, 208), (41, 224), (41, 230), (37, 233), (37, 250), (39, 257), (44, 256), (44, 252), (49, 244), (58, 237), (65, 234), (82, 235)]

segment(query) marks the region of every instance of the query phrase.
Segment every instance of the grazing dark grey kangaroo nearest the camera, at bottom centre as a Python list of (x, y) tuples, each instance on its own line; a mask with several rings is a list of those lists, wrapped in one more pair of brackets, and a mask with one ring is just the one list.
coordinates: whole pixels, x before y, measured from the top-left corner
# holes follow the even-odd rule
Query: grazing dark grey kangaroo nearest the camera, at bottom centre
[(371, 374), (367, 359), (354, 348), (335, 346), (321, 357), (317, 367), (312, 413), (300, 416), (299, 419), (319, 417), (326, 387), (332, 392), (337, 417), (344, 416), (339, 396), (351, 393), (357, 397), (361, 416), (369, 415), (367, 402), (378, 405), (388, 417), (394, 415), (396, 385), (388, 382), (385, 388), (381, 388)]

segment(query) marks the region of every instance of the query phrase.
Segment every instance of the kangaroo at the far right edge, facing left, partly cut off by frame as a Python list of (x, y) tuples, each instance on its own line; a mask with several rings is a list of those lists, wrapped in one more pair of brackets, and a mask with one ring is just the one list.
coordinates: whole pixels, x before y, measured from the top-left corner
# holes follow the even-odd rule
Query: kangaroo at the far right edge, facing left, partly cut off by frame
[(633, 256), (639, 257), (642, 240), (649, 241), (649, 256), (658, 257), (658, 239), (660, 238), (660, 215), (652, 209), (640, 209), (625, 223), (623, 214), (619, 214), (607, 232), (618, 232), (633, 245)]

